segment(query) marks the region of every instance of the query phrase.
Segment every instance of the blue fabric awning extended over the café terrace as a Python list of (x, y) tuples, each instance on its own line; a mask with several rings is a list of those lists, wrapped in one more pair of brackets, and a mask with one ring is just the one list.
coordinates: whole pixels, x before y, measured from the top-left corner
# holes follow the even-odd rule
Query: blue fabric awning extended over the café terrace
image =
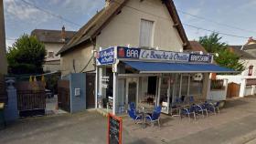
[(184, 64), (164, 62), (123, 61), (140, 73), (237, 73), (226, 67), (214, 64)]

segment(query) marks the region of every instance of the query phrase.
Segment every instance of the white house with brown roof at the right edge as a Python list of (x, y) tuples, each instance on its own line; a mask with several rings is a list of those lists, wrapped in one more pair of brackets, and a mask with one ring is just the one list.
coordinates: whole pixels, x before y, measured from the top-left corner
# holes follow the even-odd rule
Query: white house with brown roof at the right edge
[(256, 94), (256, 40), (252, 37), (243, 46), (229, 46), (229, 51), (240, 57), (245, 69), (240, 75), (229, 76), (219, 75), (218, 78), (227, 78), (229, 83), (235, 83), (240, 86), (239, 97)]

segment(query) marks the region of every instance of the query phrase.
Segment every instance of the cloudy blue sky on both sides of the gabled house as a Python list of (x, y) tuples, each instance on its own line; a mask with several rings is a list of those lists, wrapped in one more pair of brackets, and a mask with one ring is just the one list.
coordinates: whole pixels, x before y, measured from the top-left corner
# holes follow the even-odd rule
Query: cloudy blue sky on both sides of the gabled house
[[(32, 5), (27, 5), (26, 2)], [(66, 30), (79, 30), (91, 16), (101, 10), (104, 2), (105, 0), (4, 0), (6, 46), (11, 46), (17, 37), (30, 34), (36, 28), (60, 30), (65, 26)], [(248, 37), (256, 38), (256, 0), (174, 2), (189, 40), (197, 40), (199, 36), (211, 34), (211, 31), (220, 33), (221, 41), (229, 45), (243, 45)], [(48, 12), (45, 13), (44, 10)]]

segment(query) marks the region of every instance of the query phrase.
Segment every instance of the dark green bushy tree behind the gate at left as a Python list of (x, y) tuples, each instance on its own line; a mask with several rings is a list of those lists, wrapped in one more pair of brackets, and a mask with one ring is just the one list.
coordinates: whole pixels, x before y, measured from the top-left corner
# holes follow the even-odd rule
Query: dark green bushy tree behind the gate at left
[(43, 43), (36, 36), (23, 35), (9, 46), (7, 52), (8, 70), (11, 74), (43, 73), (46, 56)]

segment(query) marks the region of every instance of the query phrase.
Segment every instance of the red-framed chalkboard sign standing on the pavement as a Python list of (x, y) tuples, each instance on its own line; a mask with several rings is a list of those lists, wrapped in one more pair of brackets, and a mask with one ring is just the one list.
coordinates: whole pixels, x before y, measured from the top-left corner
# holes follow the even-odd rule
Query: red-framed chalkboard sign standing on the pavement
[(108, 144), (122, 144), (122, 118), (109, 114), (108, 116)]

